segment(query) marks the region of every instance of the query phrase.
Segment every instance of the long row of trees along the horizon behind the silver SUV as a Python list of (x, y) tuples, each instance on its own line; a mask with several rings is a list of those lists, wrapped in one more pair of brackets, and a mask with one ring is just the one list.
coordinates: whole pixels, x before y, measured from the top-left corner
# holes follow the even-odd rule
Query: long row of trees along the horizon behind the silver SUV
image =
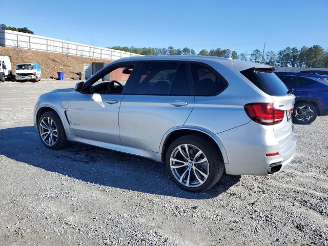
[(314, 45), (312, 47), (303, 46), (300, 49), (297, 47), (286, 47), (278, 52), (269, 50), (264, 52), (264, 54), (259, 49), (256, 49), (250, 55), (247, 53), (237, 54), (236, 51), (221, 48), (211, 49), (210, 51), (202, 49), (198, 54), (196, 54), (195, 50), (188, 47), (175, 49), (173, 46), (169, 46), (168, 48), (136, 48), (134, 46), (131, 46), (130, 48), (126, 46), (113, 46), (107, 48), (140, 55), (230, 55), (233, 59), (250, 60), (255, 63), (263, 63), (270, 66), (328, 68), (328, 50), (325, 51), (319, 45)]

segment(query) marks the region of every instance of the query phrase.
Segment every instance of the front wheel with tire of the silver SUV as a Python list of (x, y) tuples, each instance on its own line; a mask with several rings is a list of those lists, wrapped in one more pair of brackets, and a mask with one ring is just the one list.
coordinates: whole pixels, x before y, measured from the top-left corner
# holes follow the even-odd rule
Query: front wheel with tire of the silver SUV
[[(50, 121), (51, 119), (52, 121)], [(50, 134), (49, 125), (51, 126)], [(46, 112), (40, 116), (37, 129), (42, 143), (49, 149), (61, 149), (68, 145), (65, 129), (59, 116), (55, 112)], [(55, 136), (55, 129), (57, 136)], [(52, 134), (52, 138), (50, 136)], [(49, 137), (47, 137), (49, 136)], [(44, 139), (45, 138), (45, 139)]]

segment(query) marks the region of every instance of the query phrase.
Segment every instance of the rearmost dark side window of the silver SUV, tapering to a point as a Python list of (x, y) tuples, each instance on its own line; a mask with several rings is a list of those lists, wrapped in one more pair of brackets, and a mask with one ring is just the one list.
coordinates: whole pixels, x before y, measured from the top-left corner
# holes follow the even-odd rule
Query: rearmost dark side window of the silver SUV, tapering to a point
[(218, 93), (226, 83), (208, 67), (201, 64), (190, 64), (191, 75), (196, 96), (209, 96)]

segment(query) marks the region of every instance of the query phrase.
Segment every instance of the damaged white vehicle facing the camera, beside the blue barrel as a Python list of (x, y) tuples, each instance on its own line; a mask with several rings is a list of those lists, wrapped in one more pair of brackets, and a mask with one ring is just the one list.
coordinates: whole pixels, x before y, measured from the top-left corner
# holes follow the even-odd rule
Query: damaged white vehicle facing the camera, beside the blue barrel
[(37, 63), (24, 63), (16, 65), (16, 80), (39, 81), (41, 68)]

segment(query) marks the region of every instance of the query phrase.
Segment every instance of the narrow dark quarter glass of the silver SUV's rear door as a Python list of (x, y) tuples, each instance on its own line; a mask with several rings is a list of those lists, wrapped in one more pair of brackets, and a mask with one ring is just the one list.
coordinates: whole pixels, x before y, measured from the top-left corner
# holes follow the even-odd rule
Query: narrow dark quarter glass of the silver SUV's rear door
[(188, 81), (187, 65), (180, 64), (178, 71), (174, 75), (171, 95), (191, 95)]

